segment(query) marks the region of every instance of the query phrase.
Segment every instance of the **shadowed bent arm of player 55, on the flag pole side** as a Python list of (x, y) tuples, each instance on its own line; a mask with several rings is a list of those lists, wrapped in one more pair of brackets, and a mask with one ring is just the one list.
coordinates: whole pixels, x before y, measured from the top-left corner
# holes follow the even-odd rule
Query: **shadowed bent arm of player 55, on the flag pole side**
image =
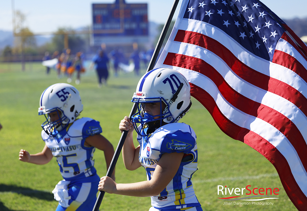
[[(111, 164), (111, 160), (114, 155), (113, 145), (108, 141), (103, 135), (95, 134), (89, 136), (85, 139), (84, 145), (94, 146), (97, 149), (100, 149), (104, 153), (104, 158), (106, 159), (107, 170)], [(111, 178), (115, 181), (115, 170), (112, 172)]]

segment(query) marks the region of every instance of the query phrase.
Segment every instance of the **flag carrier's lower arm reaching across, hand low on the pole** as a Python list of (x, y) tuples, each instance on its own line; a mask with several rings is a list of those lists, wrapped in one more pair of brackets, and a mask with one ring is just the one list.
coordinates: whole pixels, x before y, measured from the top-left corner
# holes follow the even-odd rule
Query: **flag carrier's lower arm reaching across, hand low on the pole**
[(98, 190), (127, 196), (147, 197), (160, 194), (175, 176), (184, 153), (164, 153), (149, 181), (117, 184), (109, 177), (102, 177)]

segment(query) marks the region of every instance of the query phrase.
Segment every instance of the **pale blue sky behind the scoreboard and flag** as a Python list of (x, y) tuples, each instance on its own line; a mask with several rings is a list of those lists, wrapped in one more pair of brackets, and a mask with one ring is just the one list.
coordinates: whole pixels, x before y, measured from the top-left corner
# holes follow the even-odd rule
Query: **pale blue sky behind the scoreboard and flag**
[[(174, 19), (177, 17), (181, 1)], [(54, 32), (60, 27), (78, 28), (91, 25), (91, 4), (114, 3), (115, 0), (1, 0), (0, 30), (12, 31), (12, 2), (15, 10), (25, 14), (25, 26), (34, 33), (40, 33)], [(262, 2), (282, 19), (307, 17), (307, 0)], [(147, 3), (149, 21), (164, 24), (173, 0), (126, 0), (126, 3)]]

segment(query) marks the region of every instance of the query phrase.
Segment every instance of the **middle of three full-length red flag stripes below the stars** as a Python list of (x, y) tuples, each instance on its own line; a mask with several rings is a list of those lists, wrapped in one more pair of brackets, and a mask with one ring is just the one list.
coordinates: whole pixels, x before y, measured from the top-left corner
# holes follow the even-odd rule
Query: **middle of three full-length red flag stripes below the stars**
[(304, 168), (307, 169), (307, 153), (305, 153), (307, 152), (306, 142), (296, 125), (285, 115), (236, 92), (227, 84), (219, 72), (217, 72), (207, 62), (199, 58), (182, 54), (168, 53), (163, 64), (193, 70), (210, 78), (218, 87), (225, 100), (227, 100), (230, 104), (246, 114), (268, 122), (282, 134), (284, 134), (297, 151)]

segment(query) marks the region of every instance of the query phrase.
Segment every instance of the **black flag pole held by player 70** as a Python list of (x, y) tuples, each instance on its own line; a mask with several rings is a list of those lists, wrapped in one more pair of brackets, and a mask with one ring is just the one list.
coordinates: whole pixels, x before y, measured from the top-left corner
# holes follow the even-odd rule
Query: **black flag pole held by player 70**
[[(147, 73), (148, 71), (152, 70), (153, 67), (154, 67), (154, 65), (155, 65), (155, 62), (156, 62), (156, 60), (157, 60), (159, 51), (160, 51), (160, 49), (161, 49), (161, 47), (162, 47), (163, 40), (164, 40), (164, 38), (165, 38), (165, 36), (166, 36), (166, 32), (167, 32), (167, 30), (168, 30), (168, 28), (169, 28), (169, 25), (170, 25), (170, 23), (171, 23), (171, 21), (172, 21), (172, 19), (173, 19), (173, 16), (174, 16), (175, 10), (176, 10), (176, 8), (177, 8), (178, 2), (179, 2), (179, 0), (174, 0), (172, 9), (171, 9), (171, 11), (169, 12), (169, 16), (168, 16), (167, 19), (166, 19), (166, 22), (165, 22), (164, 27), (163, 27), (163, 29), (162, 29), (161, 35), (160, 35), (159, 40), (158, 40), (158, 42), (157, 42), (156, 48), (155, 48), (155, 50), (153, 51), (153, 55), (152, 55), (152, 57), (151, 57), (151, 59), (150, 59), (148, 68), (147, 68), (147, 70), (146, 70), (146, 73)], [(134, 103), (133, 106), (132, 106), (132, 108), (131, 108), (131, 111), (130, 111), (130, 115), (129, 115), (129, 118), (130, 118), (130, 119), (131, 119), (131, 116), (135, 114), (136, 110), (137, 110), (137, 104)], [(118, 160), (118, 158), (119, 158), (119, 155), (120, 155), (120, 152), (121, 152), (121, 150), (122, 150), (122, 146), (124, 145), (124, 142), (125, 142), (125, 140), (126, 140), (127, 134), (128, 134), (128, 131), (123, 131), (123, 132), (122, 132), (122, 135), (121, 135), (121, 137), (120, 137), (120, 139), (119, 139), (119, 143), (118, 143), (118, 145), (117, 145), (117, 147), (116, 147), (116, 149), (115, 149), (115, 153), (114, 153), (113, 158), (112, 158), (112, 160), (111, 160), (111, 164), (110, 164), (110, 166), (109, 166), (109, 168), (108, 168), (108, 171), (107, 171), (107, 175), (106, 175), (106, 176), (108, 176), (108, 177), (111, 177), (111, 175), (112, 175), (112, 173), (113, 173), (113, 171), (114, 171), (116, 162), (117, 162), (117, 160)], [(99, 207), (100, 207), (100, 204), (101, 204), (101, 202), (102, 202), (102, 200), (103, 200), (104, 194), (105, 194), (104, 191), (100, 191), (100, 192), (99, 192), (98, 197), (97, 197), (97, 200), (96, 200), (96, 203), (95, 203), (95, 206), (94, 206), (94, 208), (93, 208), (92, 211), (99, 211)]]

